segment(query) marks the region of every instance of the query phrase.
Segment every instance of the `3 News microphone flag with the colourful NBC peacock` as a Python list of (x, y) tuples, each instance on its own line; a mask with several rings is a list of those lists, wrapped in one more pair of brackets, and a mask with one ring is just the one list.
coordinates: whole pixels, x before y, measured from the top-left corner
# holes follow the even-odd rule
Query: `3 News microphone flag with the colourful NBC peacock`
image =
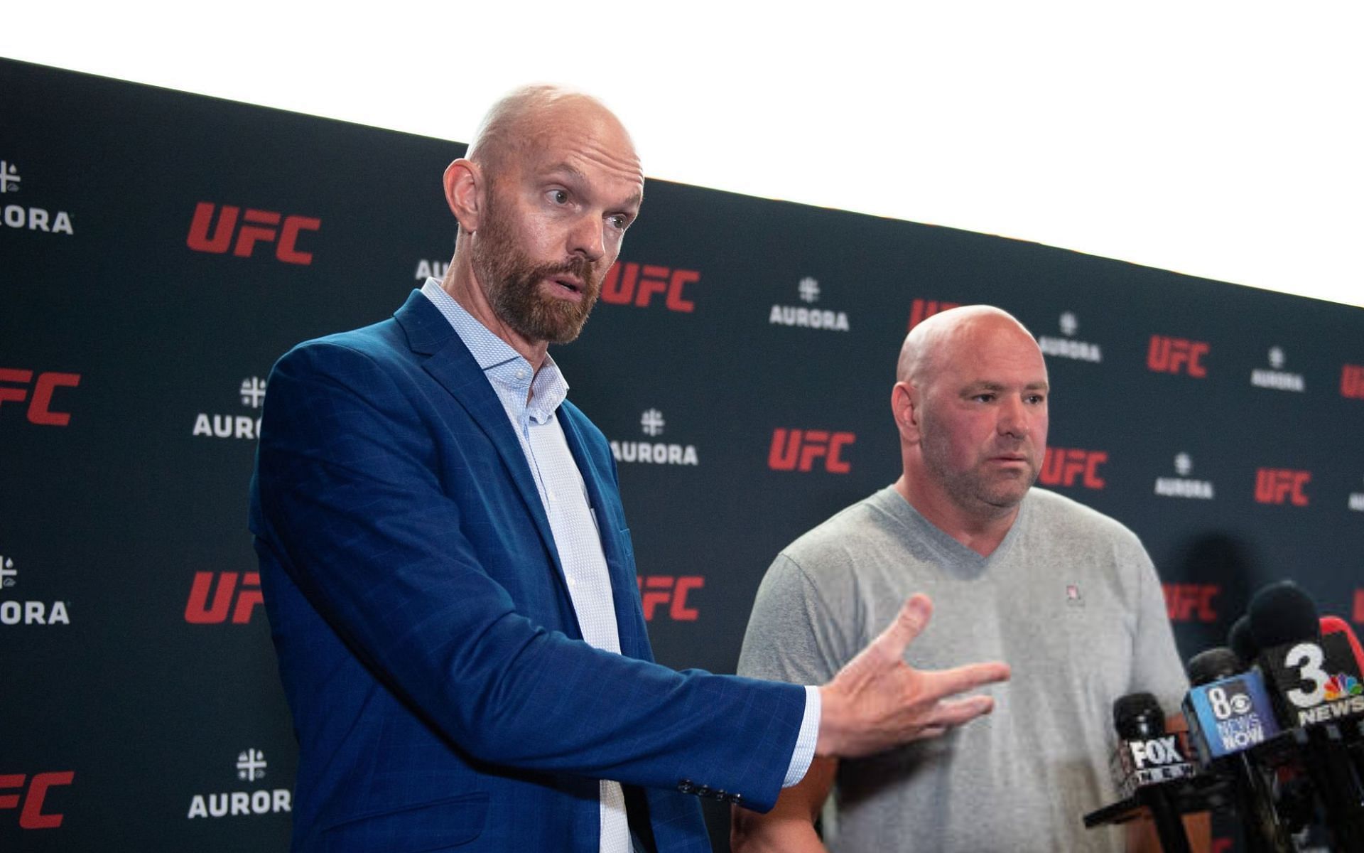
[(1364, 714), (1364, 684), (1349, 640), (1341, 633), (1271, 650), (1270, 676), (1282, 691), (1299, 726)]

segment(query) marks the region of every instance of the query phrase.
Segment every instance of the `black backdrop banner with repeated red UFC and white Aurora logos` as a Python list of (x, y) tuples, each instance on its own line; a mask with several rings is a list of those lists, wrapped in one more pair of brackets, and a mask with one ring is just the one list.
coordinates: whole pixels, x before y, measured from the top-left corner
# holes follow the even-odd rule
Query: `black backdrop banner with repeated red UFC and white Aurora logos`
[[(286, 849), (266, 378), (443, 274), (462, 150), (0, 60), (0, 849)], [(978, 302), (1048, 355), (1042, 483), (1142, 536), (1185, 656), (1282, 577), (1364, 625), (1364, 311), (649, 182), (554, 356), (662, 662), (734, 670), (773, 555), (896, 478), (906, 330)]]

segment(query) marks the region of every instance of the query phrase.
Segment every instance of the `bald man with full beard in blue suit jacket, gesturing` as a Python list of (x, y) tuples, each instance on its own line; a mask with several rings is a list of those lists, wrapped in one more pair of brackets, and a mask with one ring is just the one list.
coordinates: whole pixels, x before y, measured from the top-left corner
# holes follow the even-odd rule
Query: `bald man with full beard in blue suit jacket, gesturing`
[(708, 850), (696, 797), (768, 809), (814, 753), (990, 710), (1000, 663), (908, 667), (917, 596), (822, 686), (652, 662), (573, 340), (638, 213), (597, 101), (518, 90), (446, 171), (443, 281), (270, 377), (251, 530), (300, 760), (293, 849)]

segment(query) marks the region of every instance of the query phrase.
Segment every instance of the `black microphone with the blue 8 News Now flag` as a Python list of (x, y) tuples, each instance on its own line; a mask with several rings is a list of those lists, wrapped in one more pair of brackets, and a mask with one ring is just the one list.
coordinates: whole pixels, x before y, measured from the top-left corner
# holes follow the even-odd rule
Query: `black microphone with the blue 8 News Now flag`
[(1267, 770), (1251, 749), (1273, 740), (1278, 722), (1258, 671), (1245, 670), (1237, 652), (1210, 648), (1189, 658), (1184, 718), (1204, 767), (1232, 778), (1236, 811), (1247, 830), (1249, 853), (1293, 853), (1288, 827), (1274, 805)]

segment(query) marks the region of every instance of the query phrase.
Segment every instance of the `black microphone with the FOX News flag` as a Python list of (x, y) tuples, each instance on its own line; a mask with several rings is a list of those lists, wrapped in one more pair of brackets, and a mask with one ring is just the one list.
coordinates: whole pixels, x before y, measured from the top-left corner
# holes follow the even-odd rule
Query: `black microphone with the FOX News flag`
[(1187, 741), (1181, 733), (1166, 734), (1165, 712), (1150, 693), (1129, 693), (1114, 700), (1113, 726), (1120, 738), (1114, 757), (1123, 794), (1135, 794), (1150, 811), (1165, 853), (1188, 853), (1184, 823), (1163, 785), (1194, 775)]

